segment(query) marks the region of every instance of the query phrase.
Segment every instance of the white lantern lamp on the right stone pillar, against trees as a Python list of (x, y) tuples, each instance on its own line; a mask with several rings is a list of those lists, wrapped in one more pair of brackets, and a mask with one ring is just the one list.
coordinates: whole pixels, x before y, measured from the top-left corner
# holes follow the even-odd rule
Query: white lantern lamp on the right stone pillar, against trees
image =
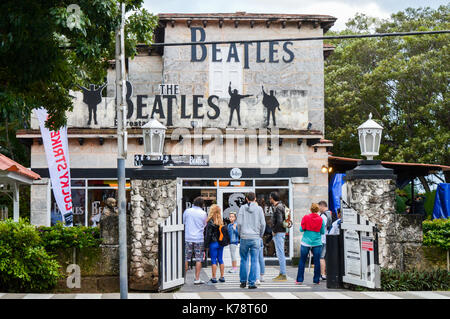
[(372, 113), (369, 114), (369, 119), (358, 127), (361, 155), (367, 160), (373, 160), (374, 156), (378, 156), (382, 131), (383, 127), (372, 120)]

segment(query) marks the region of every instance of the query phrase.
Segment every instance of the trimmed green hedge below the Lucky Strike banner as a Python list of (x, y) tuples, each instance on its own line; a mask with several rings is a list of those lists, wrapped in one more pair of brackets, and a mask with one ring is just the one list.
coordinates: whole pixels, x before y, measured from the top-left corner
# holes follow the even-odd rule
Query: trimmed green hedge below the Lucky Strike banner
[(57, 223), (52, 227), (41, 226), (38, 231), (45, 249), (51, 252), (61, 248), (98, 247), (102, 243), (97, 227), (64, 227), (61, 223)]

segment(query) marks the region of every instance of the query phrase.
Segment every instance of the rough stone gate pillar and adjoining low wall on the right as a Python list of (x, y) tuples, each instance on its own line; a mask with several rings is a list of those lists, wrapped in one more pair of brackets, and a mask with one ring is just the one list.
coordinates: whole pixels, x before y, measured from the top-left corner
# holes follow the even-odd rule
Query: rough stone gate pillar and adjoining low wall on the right
[(404, 271), (420, 267), (422, 219), (396, 213), (395, 188), (395, 181), (389, 179), (347, 181), (350, 205), (379, 229), (380, 266)]

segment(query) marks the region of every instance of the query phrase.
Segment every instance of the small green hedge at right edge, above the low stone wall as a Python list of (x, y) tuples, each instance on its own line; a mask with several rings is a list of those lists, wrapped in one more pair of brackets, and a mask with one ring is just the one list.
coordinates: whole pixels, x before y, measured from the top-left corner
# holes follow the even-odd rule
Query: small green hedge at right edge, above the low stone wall
[(450, 249), (450, 219), (425, 220), (422, 223), (423, 244), (425, 246)]

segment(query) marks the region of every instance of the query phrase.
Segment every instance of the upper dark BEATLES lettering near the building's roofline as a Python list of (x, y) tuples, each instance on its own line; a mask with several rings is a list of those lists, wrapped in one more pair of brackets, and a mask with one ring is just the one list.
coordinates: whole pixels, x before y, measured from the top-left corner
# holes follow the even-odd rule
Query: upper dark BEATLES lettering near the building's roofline
[[(197, 35), (200, 37), (198, 38)], [(201, 27), (191, 27), (191, 42), (205, 42), (206, 41), (206, 32), (205, 29)], [(253, 46), (253, 42), (245, 42), (241, 43), (242, 46), (244, 46), (244, 57), (239, 57), (238, 50), (237, 50), (237, 44), (236, 43), (230, 43), (228, 52), (221, 52), (221, 49), (217, 47), (217, 44), (211, 45), (211, 54), (212, 54), (212, 62), (222, 62), (225, 59), (226, 62), (240, 62), (244, 61), (244, 69), (249, 69), (249, 50), (250, 47)], [(284, 55), (281, 57), (281, 60), (285, 63), (290, 63), (294, 60), (294, 52), (289, 48), (289, 46), (292, 46), (293, 43), (291, 41), (286, 41), (283, 43), (282, 51), (284, 52)], [(269, 48), (268, 48), (268, 54), (264, 55), (261, 50), (261, 42), (256, 42), (256, 63), (265, 63), (266, 56), (268, 58), (269, 63), (278, 63), (280, 62), (280, 57), (276, 56), (279, 51), (279, 42), (278, 41), (269, 41)], [(197, 55), (197, 48), (200, 48), (200, 55)], [(218, 53), (225, 54), (222, 58), (218, 58)], [(208, 54), (208, 50), (206, 49), (206, 45), (204, 44), (197, 44), (191, 46), (191, 62), (203, 62), (206, 59), (206, 56)]]

